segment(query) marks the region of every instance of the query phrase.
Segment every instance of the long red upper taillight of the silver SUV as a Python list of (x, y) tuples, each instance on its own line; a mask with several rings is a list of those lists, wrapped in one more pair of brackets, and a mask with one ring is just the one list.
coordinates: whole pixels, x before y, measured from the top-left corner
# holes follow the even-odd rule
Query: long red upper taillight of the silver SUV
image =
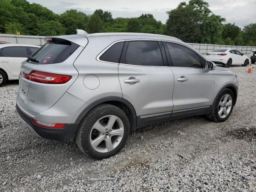
[(47, 84), (63, 84), (72, 78), (72, 76), (69, 75), (60, 75), (40, 71), (32, 71), (30, 74), (26, 74), (22, 71), (21, 76), (30, 81)]

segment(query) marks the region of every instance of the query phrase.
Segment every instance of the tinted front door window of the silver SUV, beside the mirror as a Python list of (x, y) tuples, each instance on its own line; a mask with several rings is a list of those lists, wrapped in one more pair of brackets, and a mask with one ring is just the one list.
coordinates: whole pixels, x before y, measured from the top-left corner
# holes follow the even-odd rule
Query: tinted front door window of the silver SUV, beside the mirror
[(167, 42), (166, 45), (170, 52), (174, 67), (202, 68), (199, 55), (196, 54), (196, 52), (175, 43)]

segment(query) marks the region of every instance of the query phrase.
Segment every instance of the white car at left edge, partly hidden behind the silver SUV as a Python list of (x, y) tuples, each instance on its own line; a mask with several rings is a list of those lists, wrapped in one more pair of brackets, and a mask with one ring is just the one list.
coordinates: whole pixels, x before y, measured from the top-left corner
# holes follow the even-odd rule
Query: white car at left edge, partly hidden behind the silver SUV
[(19, 79), (21, 62), (40, 46), (23, 44), (0, 44), (0, 86), (7, 80)]

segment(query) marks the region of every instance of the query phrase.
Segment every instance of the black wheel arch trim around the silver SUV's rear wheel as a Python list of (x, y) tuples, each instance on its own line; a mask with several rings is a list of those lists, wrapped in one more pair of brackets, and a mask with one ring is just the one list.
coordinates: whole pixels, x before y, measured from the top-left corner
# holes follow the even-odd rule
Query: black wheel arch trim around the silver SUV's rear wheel
[(75, 123), (80, 124), (80, 122), (82, 122), (82, 120), (86, 116), (86, 114), (88, 114), (88, 112), (90, 110), (92, 110), (94, 107), (96, 107), (100, 104), (111, 104), (111, 105), (114, 105), (114, 106), (120, 108), (121, 110), (123, 110), (125, 112), (125, 114), (128, 116), (131, 130), (136, 129), (137, 116), (136, 116), (136, 111), (135, 111), (134, 107), (128, 100), (126, 100), (122, 97), (118, 97), (118, 96), (104, 97), (104, 98), (101, 98), (99, 100), (92, 102), (80, 113), (80, 115), (76, 119)]

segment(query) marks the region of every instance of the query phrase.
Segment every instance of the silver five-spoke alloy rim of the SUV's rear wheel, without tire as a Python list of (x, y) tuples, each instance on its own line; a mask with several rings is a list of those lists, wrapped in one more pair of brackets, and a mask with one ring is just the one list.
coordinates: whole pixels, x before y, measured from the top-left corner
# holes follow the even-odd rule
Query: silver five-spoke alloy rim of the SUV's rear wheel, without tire
[(106, 153), (116, 148), (124, 136), (124, 124), (115, 115), (107, 115), (92, 126), (90, 144), (94, 150)]

